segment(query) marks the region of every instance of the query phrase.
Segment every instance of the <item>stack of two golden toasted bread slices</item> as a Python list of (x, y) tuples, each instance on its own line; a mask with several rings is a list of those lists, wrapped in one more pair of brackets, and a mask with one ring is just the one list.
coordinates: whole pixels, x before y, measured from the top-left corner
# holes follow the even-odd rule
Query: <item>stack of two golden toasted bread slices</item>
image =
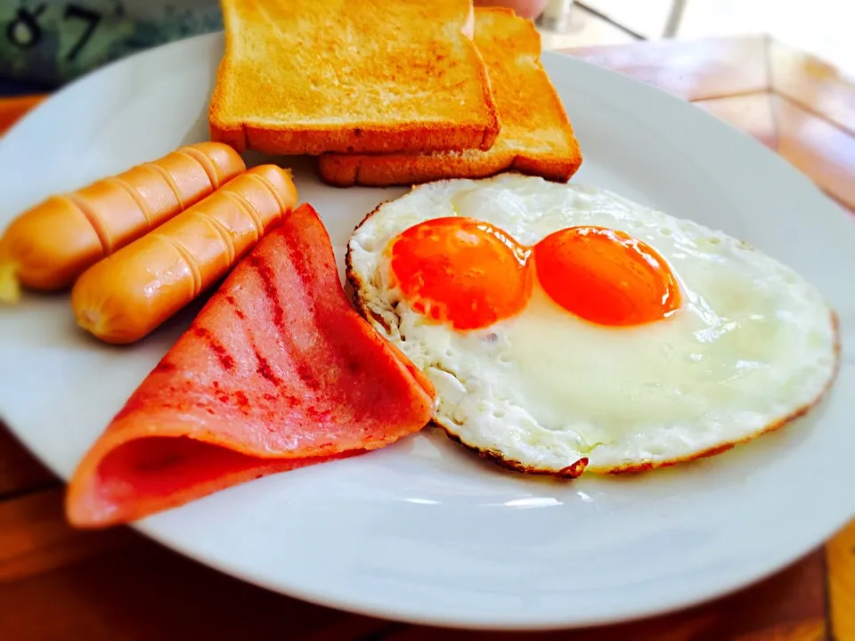
[(582, 163), (530, 20), (471, 0), (222, 0), (212, 140), (319, 156), (330, 184), (514, 170), (566, 182)]

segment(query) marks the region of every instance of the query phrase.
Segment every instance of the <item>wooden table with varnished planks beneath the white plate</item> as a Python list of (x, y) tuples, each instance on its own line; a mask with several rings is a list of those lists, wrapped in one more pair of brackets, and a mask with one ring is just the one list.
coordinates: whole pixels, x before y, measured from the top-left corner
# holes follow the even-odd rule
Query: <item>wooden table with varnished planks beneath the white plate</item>
[[(777, 150), (855, 209), (855, 82), (826, 64), (763, 37), (570, 54), (694, 101)], [(0, 125), (27, 107), (27, 101), (0, 103)], [(209, 570), (126, 528), (72, 531), (62, 518), (61, 492), (57, 479), (0, 426), (0, 637), (9, 641), (496, 637), (304, 604)], [(773, 578), (686, 612), (612, 628), (500, 637), (850, 641), (855, 523)]]

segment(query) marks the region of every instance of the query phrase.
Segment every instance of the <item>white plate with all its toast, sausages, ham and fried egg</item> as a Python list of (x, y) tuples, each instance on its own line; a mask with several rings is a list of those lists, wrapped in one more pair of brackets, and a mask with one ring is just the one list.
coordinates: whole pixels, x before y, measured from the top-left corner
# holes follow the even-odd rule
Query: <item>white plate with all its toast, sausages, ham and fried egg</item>
[(855, 228), (784, 160), (468, 0), (224, 0), (0, 140), (0, 418), (283, 594), (574, 627), (855, 515)]

